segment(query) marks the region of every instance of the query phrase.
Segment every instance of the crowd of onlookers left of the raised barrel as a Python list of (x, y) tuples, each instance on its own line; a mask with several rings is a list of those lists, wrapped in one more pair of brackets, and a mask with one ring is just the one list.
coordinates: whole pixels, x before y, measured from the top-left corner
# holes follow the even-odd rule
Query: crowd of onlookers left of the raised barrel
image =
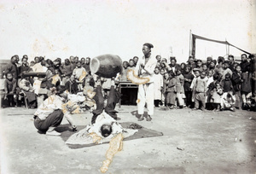
[(27, 55), (23, 55), (19, 60), (18, 55), (12, 56), (1, 70), (2, 78), (5, 78), (1, 90), (3, 107), (17, 107), (25, 96), (28, 107), (34, 108), (50, 95), (52, 87), (77, 94), (84, 90), (85, 84), (90, 84), (90, 57), (79, 60), (77, 56), (70, 56), (61, 62), (61, 58), (51, 61), (37, 56), (29, 63)]

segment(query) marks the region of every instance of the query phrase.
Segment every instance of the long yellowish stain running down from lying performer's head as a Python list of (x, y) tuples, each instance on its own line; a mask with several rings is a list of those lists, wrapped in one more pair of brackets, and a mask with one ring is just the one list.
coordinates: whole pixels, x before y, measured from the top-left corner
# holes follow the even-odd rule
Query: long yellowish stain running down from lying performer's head
[(121, 151), (123, 149), (123, 134), (119, 133), (119, 135), (114, 136), (111, 141), (109, 142), (109, 148), (106, 153), (106, 160), (103, 161), (103, 165), (101, 167), (102, 173), (105, 173), (108, 171), (108, 166), (112, 162), (113, 155), (118, 153), (118, 151)]

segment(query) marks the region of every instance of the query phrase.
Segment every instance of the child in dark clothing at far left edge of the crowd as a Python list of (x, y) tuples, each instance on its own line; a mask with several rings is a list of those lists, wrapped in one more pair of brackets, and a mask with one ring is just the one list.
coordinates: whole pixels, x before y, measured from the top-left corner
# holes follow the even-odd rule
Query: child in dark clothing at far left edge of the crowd
[(17, 81), (15, 78), (13, 78), (13, 74), (7, 73), (4, 81), (4, 99), (7, 99), (10, 107), (15, 106), (15, 103), (17, 104), (16, 86)]

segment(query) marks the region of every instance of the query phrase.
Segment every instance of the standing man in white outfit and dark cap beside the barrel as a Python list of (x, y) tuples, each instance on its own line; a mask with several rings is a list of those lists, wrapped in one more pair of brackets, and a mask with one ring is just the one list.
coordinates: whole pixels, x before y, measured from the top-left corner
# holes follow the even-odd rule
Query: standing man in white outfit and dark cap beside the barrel
[(134, 72), (140, 78), (148, 78), (146, 84), (139, 84), (137, 92), (137, 113), (140, 115), (138, 121), (143, 120), (144, 107), (147, 103), (148, 116), (147, 121), (151, 121), (154, 114), (154, 67), (156, 60), (151, 57), (151, 49), (154, 48), (153, 44), (143, 44), (143, 58), (137, 61), (137, 66)]

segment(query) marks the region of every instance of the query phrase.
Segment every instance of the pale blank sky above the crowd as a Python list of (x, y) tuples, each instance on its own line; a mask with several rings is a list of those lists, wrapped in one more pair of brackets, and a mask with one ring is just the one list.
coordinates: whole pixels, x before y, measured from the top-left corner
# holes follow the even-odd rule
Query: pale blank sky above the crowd
[[(119, 55), (124, 61), (152, 55), (189, 57), (189, 30), (216, 40), (225, 39), (256, 53), (255, 0), (0, 0), (0, 59), (43, 55), (62, 60)], [(196, 58), (225, 55), (226, 47), (196, 40)], [(240, 56), (241, 51), (230, 49)]]

